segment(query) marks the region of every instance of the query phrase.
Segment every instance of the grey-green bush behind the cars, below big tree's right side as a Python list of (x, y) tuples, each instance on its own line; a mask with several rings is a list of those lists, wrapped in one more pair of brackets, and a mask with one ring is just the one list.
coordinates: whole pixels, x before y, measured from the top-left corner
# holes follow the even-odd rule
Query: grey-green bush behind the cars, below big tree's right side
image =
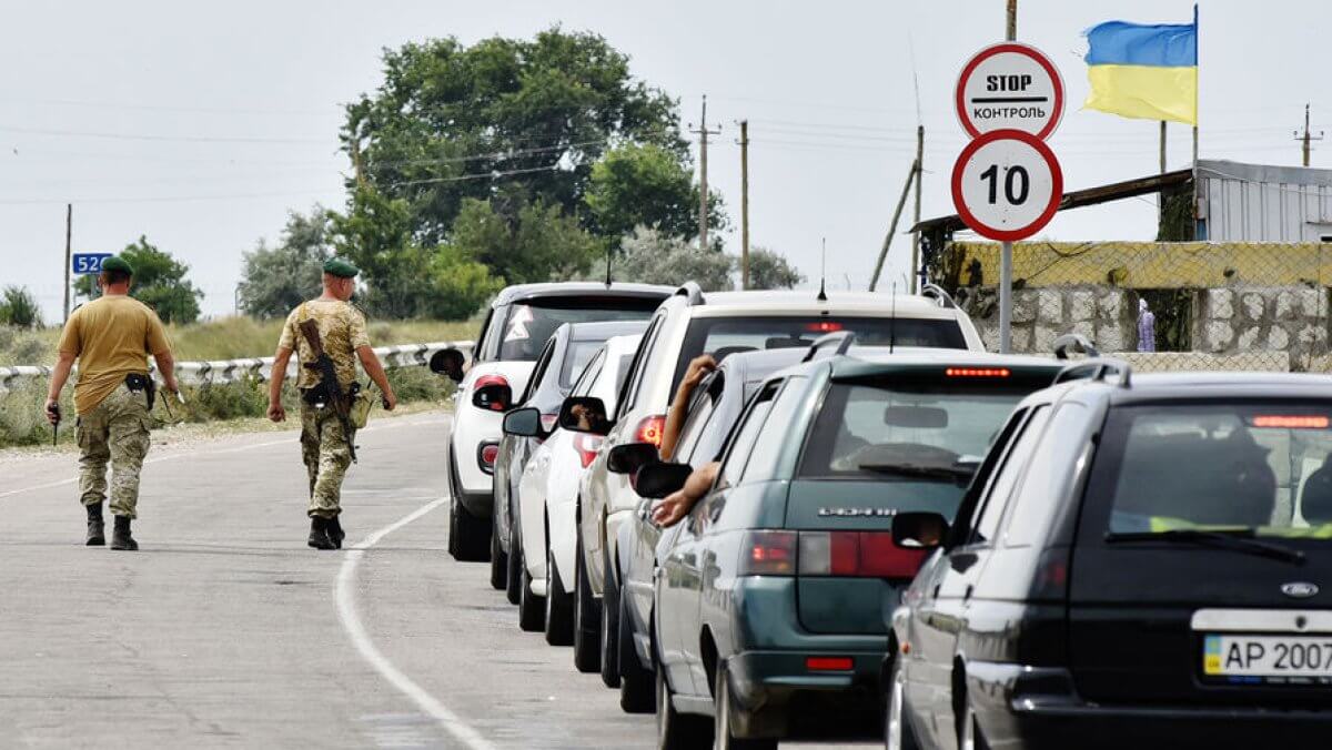
[(731, 281), (734, 269), (734, 256), (714, 249), (702, 250), (678, 237), (639, 226), (625, 237), (614, 277), (667, 285), (697, 281), (705, 292), (722, 292), (735, 288)]

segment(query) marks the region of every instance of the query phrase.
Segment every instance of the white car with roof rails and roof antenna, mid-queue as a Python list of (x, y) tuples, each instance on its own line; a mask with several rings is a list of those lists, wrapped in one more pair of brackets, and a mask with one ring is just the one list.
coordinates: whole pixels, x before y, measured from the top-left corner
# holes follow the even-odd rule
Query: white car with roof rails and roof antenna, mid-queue
[[(582, 554), (573, 571), (579, 619), (597, 623), (575, 650), (599, 649), (603, 585), (618, 586), (615, 570), (619, 525), (629, 520), (638, 494), (627, 474), (611, 473), (606, 457), (629, 442), (661, 444), (666, 409), (690, 360), (765, 349), (807, 349), (817, 338), (840, 330), (855, 333), (863, 346), (910, 346), (983, 352), (971, 318), (936, 286), (922, 296), (855, 292), (721, 292), (703, 294), (686, 284), (662, 302), (643, 334), (629, 378), (617, 398), (613, 424), (578, 492)], [(609, 414), (610, 412), (607, 412)], [(609, 571), (609, 577), (607, 577)], [(567, 571), (562, 573), (566, 578)], [(587, 661), (591, 655), (587, 654)], [(575, 658), (578, 658), (575, 655)]]

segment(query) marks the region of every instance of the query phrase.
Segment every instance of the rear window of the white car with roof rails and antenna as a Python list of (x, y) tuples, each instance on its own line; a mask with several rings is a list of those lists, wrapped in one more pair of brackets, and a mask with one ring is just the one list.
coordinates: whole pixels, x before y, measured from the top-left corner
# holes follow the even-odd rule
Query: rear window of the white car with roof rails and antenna
[(967, 340), (955, 320), (827, 316), (698, 317), (690, 321), (675, 364), (674, 390), (689, 362), (707, 353), (718, 361), (741, 352), (805, 349), (821, 336), (850, 330), (859, 346), (923, 346), (966, 349)]

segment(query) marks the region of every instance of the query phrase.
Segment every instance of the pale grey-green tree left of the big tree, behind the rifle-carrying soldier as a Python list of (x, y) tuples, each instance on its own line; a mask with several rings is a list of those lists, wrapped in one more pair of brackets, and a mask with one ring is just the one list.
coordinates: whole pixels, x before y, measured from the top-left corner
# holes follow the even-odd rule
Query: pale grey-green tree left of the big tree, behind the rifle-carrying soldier
[(277, 246), (264, 240), (245, 253), (240, 306), (245, 314), (282, 317), (320, 294), (324, 262), (332, 257), (328, 210), (320, 205), (301, 214), (290, 212)]

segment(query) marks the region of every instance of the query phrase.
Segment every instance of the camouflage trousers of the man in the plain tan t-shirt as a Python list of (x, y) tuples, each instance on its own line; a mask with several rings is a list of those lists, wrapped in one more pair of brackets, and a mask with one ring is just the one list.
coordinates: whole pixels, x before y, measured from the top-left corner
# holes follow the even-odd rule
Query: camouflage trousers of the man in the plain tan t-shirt
[(79, 417), (79, 498), (84, 505), (107, 500), (111, 461), (111, 512), (137, 518), (139, 473), (152, 442), (148, 394), (121, 385), (92, 412)]

